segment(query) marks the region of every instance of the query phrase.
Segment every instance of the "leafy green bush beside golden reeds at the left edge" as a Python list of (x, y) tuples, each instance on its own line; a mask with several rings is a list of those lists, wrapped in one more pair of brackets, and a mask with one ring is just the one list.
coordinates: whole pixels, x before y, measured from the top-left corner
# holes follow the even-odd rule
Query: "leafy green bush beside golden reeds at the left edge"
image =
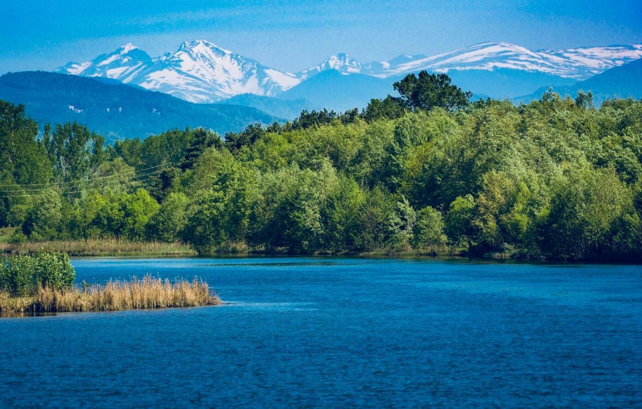
[(69, 255), (60, 251), (0, 258), (0, 290), (12, 296), (28, 296), (39, 287), (70, 288), (75, 279)]

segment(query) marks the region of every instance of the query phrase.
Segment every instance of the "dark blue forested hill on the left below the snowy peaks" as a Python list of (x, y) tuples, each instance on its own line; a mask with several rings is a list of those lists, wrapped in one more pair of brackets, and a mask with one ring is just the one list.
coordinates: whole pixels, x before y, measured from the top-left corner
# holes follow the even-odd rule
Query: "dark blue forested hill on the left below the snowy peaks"
[(42, 71), (0, 76), (0, 99), (24, 104), (40, 124), (81, 122), (108, 142), (185, 126), (204, 126), (222, 135), (252, 122), (280, 120), (247, 106), (189, 103), (114, 80)]

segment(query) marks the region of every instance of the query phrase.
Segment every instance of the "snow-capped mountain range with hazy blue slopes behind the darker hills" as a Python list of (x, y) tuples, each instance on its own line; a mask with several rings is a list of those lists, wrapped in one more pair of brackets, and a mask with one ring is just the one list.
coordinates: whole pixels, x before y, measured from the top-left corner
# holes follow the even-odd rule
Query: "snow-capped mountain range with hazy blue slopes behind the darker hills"
[[(155, 58), (126, 44), (88, 62), (67, 63), (56, 71), (117, 79), (194, 103), (254, 94), (279, 99), (305, 98), (315, 108), (343, 110), (355, 103), (363, 106), (372, 97), (392, 92), (392, 83), (409, 72), (447, 72), (453, 82), (472, 90), (476, 96), (518, 97), (542, 86), (572, 85), (641, 57), (642, 44), (531, 50), (506, 42), (483, 42), (433, 56), (400, 55), (369, 63), (339, 53), (291, 73), (267, 67), (211, 42), (195, 40)], [(308, 83), (324, 72), (335, 74)], [(348, 78), (340, 78), (336, 73)], [(363, 90), (369, 94), (363, 94)], [(350, 96), (349, 103), (345, 95)]]

